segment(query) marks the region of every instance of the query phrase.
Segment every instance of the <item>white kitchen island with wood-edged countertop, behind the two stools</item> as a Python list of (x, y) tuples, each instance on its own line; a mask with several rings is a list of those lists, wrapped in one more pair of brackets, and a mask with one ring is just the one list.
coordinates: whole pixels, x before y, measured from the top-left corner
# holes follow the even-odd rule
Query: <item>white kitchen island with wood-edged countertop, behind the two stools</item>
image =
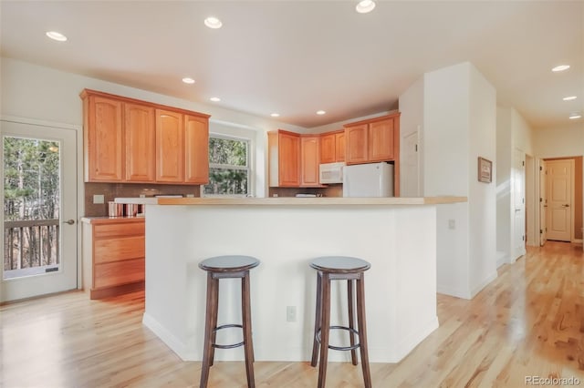
[[(256, 361), (308, 361), (318, 256), (355, 256), (365, 272), (370, 362), (399, 362), (438, 327), (436, 207), (465, 198), (158, 199), (146, 211), (143, 323), (185, 361), (201, 361), (206, 272), (201, 260), (249, 255)], [(347, 323), (333, 284), (331, 324)], [(221, 282), (219, 324), (240, 322), (239, 281)], [(226, 332), (226, 333), (222, 333)], [(241, 341), (222, 331), (218, 343)], [(336, 331), (343, 332), (343, 331)], [(332, 335), (344, 345), (348, 337)], [(216, 360), (242, 360), (241, 349)], [(348, 361), (349, 352), (329, 352)]]

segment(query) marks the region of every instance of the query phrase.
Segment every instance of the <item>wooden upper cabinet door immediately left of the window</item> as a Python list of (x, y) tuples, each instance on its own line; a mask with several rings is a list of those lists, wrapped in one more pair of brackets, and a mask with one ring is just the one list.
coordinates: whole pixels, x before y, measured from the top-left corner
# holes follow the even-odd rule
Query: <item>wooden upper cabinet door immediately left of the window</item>
[(209, 120), (184, 116), (184, 181), (209, 183)]

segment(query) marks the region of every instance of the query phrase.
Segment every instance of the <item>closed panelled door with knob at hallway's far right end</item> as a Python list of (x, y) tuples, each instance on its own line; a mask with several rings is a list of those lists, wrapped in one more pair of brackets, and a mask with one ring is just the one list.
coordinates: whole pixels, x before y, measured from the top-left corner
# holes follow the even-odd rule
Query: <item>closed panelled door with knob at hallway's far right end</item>
[(547, 240), (571, 241), (573, 163), (547, 160)]

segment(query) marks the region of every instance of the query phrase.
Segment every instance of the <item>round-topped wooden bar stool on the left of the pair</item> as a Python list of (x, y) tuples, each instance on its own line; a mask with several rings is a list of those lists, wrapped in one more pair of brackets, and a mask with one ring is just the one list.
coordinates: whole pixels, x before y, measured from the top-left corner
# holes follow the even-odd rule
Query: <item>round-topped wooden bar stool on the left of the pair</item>
[[(259, 260), (251, 256), (216, 256), (203, 260), (199, 268), (207, 271), (207, 307), (204, 322), (203, 366), (201, 368), (200, 388), (206, 387), (209, 380), (209, 370), (213, 366), (214, 352), (217, 349), (233, 349), (244, 346), (245, 373), (247, 386), (255, 387), (254, 379), (254, 345), (252, 342), (252, 317), (249, 296), (249, 270), (257, 267)], [(241, 311), (242, 324), (224, 324), (217, 326), (217, 311), (219, 310), (219, 280), (241, 279)], [(244, 341), (229, 345), (215, 343), (217, 331), (239, 327), (244, 332)]]

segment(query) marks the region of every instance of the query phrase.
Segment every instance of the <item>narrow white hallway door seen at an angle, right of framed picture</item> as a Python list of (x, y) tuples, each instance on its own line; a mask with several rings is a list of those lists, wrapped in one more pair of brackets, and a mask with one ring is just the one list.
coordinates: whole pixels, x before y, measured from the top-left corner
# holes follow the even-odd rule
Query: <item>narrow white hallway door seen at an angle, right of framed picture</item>
[(516, 149), (513, 152), (513, 170), (511, 181), (513, 185), (512, 209), (513, 209), (513, 256), (526, 254), (526, 160), (525, 154)]

